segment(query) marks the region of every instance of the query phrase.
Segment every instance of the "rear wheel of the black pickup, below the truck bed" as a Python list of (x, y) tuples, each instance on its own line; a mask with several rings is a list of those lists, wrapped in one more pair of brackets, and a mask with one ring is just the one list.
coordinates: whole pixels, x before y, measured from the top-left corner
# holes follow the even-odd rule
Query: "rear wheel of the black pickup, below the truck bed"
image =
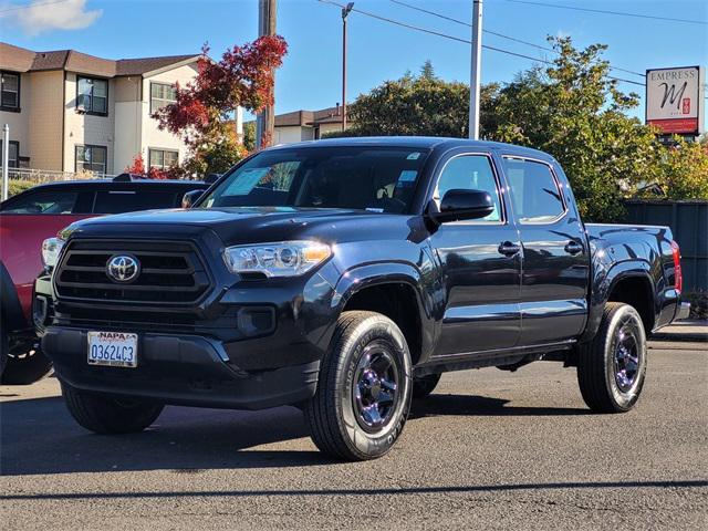
[(597, 334), (580, 347), (577, 383), (587, 407), (624, 413), (634, 407), (646, 375), (646, 333), (628, 304), (605, 304)]

